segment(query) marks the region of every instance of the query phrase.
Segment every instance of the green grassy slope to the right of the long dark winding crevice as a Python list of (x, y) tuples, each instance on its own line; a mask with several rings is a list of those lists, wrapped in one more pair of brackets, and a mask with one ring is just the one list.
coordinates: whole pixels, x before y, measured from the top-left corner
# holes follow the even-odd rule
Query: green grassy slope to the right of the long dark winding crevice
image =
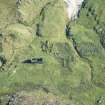
[[(80, 56), (90, 64), (92, 70), (92, 83), (95, 87), (93, 86), (93, 90), (90, 90), (91, 93), (87, 91), (85, 94), (87, 96), (90, 94), (90, 99), (87, 97), (89, 100), (86, 105), (93, 105), (95, 103), (91, 102), (94, 102), (95, 97), (105, 94), (105, 50), (100, 43), (101, 34), (94, 30), (94, 27), (97, 26), (104, 30), (105, 2), (104, 0), (87, 1), (87, 5), (81, 10), (79, 19), (75, 23), (71, 23), (71, 31), (74, 34), (73, 38), (77, 43)], [(89, 10), (90, 8), (91, 10)], [(92, 14), (92, 11), (95, 12)], [(96, 15), (97, 18), (95, 19)], [(104, 105), (105, 103), (101, 104)]]

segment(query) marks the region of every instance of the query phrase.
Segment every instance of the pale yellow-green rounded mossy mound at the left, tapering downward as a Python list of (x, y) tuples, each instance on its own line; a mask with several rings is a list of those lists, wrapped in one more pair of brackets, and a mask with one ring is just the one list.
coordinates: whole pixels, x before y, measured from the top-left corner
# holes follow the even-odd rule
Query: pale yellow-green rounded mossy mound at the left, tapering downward
[(7, 27), (3, 35), (3, 53), (10, 59), (15, 50), (27, 47), (33, 40), (33, 32), (30, 27), (22, 24), (12, 24)]

